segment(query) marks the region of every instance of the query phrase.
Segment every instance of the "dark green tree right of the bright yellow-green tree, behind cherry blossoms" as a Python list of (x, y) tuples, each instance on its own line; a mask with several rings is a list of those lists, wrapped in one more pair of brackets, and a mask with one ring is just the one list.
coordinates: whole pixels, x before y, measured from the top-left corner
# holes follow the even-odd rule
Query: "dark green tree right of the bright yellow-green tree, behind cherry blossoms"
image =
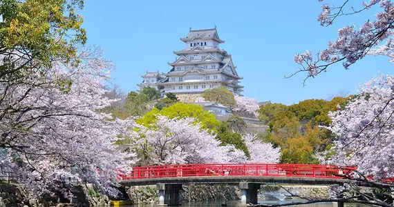
[(229, 128), (229, 123), (226, 121), (221, 122), (220, 126), (218, 127), (216, 139), (221, 141), (222, 146), (232, 144), (238, 150), (243, 150), (247, 157), (250, 157), (249, 152), (247, 151), (247, 146), (245, 141), (243, 141), (241, 134), (232, 132)]

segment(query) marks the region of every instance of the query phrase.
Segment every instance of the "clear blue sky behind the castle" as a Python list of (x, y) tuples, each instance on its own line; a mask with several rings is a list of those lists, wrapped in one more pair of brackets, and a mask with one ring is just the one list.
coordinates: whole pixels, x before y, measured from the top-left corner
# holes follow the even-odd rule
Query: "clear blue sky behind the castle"
[[(333, 1), (329, 1), (332, 3)], [(353, 1), (355, 6), (360, 1)], [(334, 1), (335, 3), (335, 1)], [(88, 31), (88, 46), (100, 46), (115, 63), (113, 83), (129, 92), (147, 70), (168, 72), (173, 51), (185, 48), (180, 37), (189, 28), (218, 28), (243, 77), (243, 95), (259, 101), (292, 104), (304, 99), (326, 99), (342, 90), (355, 93), (359, 83), (377, 71), (392, 73), (386, 57), (367, 57), (350, 70), (332, 66), (303, 86), (305, 73), (284, 79), (298, 70), (294, 54), (317, 52), (335, 40), (337, 30), (354, 23), (357, 28), (373, 12), (339, 19), (323, 28), (317, 22), (321, 3), (310, 1), (86, 1), (80, 14)]]

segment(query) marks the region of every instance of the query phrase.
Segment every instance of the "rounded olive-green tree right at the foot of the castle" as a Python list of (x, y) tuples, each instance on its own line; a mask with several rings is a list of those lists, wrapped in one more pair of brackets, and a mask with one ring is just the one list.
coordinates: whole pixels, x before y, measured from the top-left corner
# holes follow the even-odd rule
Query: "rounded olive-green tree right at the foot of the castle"
[(234, 94), (227, 90), (227, 88), (224, 86), (205, 90), (201, 96), (207, 101), (221, 103), (224, 106), (228, 106), (230, 108), (236, 106)]

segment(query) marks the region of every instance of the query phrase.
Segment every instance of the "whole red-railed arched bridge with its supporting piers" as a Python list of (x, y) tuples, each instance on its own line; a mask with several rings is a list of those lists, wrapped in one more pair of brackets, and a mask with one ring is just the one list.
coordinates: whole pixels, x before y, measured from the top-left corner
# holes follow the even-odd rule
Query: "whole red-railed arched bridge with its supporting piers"
[(121, 173), (124, 186), (156, 184), (159, 204), (178, 204), (182, 184), (236, 184), (241, 203), (257, 203), (261, 184), (343, 184), (355, 168), (308, 164), (184, 164), (133, 167)]

